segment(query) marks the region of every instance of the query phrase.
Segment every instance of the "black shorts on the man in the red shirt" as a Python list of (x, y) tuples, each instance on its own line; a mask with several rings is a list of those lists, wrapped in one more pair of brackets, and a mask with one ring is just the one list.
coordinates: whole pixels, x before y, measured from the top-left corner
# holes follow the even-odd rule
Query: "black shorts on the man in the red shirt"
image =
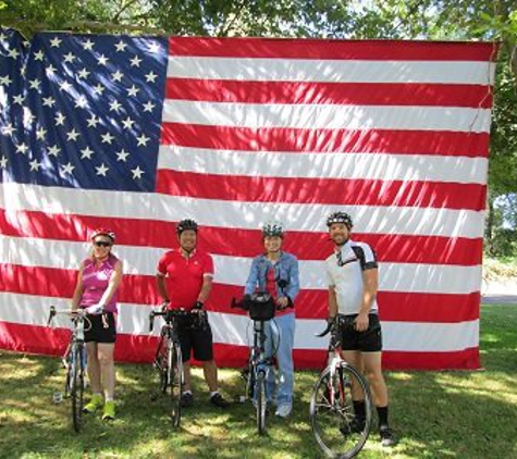
[(205, 321), (204, 326), (193, 326), (189, 320), (182, 321), (179, 326), (179, 337), (184, 362), (188, 362), (193, 353), (194, 358), (201, 362), (208, 362), (213, 359), (212, 330), (208, 319)]

